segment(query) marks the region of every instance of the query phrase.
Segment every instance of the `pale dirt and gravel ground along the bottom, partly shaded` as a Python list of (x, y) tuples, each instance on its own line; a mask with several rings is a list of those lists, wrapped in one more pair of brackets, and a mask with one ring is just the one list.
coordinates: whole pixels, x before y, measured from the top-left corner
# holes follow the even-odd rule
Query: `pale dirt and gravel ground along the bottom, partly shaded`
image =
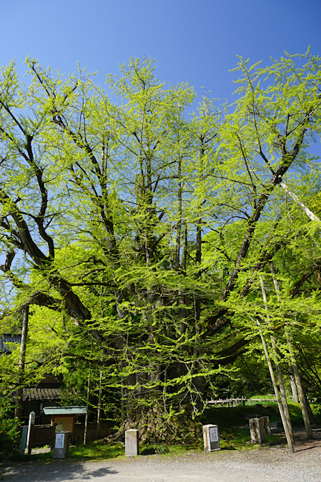
[(9, 481), (321, 481), (321, 429), (306, 441), (295, 432), (295, 453), (282, 443), (248, 451), (191, 452), (187, 455), (145, 455), (99, 462), (52, 460), (50, 463), (17, 463), (3, 476)]

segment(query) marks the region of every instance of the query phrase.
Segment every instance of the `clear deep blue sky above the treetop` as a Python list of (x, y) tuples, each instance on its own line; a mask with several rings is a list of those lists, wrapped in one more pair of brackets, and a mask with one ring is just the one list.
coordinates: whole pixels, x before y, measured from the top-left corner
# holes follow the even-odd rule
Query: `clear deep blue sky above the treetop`
[(269, 62), (284, 50), (321, 54), (320, 0), (1, 0), (1, 65), (27, 55), (63, 73), (119, 73), (129, 57), (158, 61), (156, 75), (230, 98), (239, 54)]

